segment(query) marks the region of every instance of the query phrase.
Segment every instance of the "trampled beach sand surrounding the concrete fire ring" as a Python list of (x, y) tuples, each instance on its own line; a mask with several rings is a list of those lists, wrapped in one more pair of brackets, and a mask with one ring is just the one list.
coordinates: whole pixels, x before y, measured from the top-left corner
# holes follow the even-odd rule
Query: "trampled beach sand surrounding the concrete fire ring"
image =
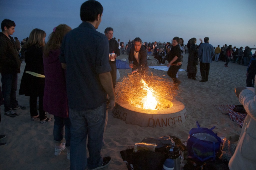
[[(123, 58), (127, 59), (128, 57), (121, 55), (117, 59)], [(187, 58), (188, 54), (185, 54), (181, 69), (186, 70)], [(182, 142), (186, 142), (190, 129), (196, 128), (196, 121), (200, 123), (201, 127), (216, 126), (214, 132), (221, 139), (229, 134), (240, 134), (241, 127), (230, 120), (228, 115), (223, 114), (226, 111), (221, 111), (214, 105), (240, 104), (234, 93), (234, 88), (246, 86), (247, 67), (230, 62), (227, 68), (224, 67), (224, 64), (225, 62), (222, 61), (211, 63), (209, 79), (206, 83), (199, 82), (201, 80), (199, 66), (197, 80), (188, 79), (186, 71), (179, 71), (178, 76), (182, 83), (179, 86), (176, 100), (185, 105), (187, 114), (187, 120), (179, 126), (143, 128), (138, 125), (126, 124), (124, 121), (114, 118), (111, 110), (108, 110), (108, 124), (104, 133), (105, 145), (102, 148), (102, 156), (111, 156), (112, 162), (103, 169), (127, 169), (120, 151), (133, 146), (136, 142), (141, 142), (144, 138), (173, 135), (180, 138)], [(17, 100), (27, 109), (16, 110), (19, 116), (11, 118), (4, 115), (4, 106), (1, 106), (0, 134), (6, 135), (6, 138), (0, 142), (5, 142), (7, 145), (0, 146), (0, 169), (68, 170), (70, 162), (66, 159), (67, 150), (62, 151), (59, 156), (54, 155), (54, 121), (45, 124), (31, 121), (29, 97), (18, 95), (24, 68), (25, 62), (22, 63), (21, 73), (18, 74)], [(127, 75), (127, 72), (130, 73), (131, 69), (119, 69), (119, 72), (122, 78)], [(149, 72), (171, 80), (166, 71), (150, 68)], [(47, 115), (49, 118), (53, 118), (53, 115)]]

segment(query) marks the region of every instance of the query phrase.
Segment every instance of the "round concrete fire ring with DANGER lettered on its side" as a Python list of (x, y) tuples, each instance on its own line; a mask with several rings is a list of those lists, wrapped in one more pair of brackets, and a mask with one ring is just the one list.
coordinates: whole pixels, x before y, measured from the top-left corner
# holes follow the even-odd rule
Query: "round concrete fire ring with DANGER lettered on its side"
[(177, 100), (172, 100), (173, 107), (162, 110), (141, 109), (123, 100), (117, 100), (112, 109), (114, 118), (127, 124), (141, 127), (175, 127), (187, 120), (185, 105)]

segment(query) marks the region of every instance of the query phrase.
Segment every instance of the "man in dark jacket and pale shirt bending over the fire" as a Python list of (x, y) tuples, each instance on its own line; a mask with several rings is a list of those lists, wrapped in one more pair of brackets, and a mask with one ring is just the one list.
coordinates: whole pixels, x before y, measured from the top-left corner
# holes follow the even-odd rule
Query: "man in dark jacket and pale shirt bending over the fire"
[(134, 46), (129, 52), (129, 66), (132, 68), (132, 74), (135, 72), (147, 73), (147, 50), (142, 45), (142, 40), (137, 37), (134, 39)]

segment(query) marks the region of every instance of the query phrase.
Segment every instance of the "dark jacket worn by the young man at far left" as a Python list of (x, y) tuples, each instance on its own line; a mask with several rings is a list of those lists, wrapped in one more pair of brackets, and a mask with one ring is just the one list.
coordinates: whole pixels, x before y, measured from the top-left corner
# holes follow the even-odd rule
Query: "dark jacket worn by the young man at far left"
[[(9, 39), (10, 38), (10, 39)], [(4, 74), (20, 73), (20, 59), (13, 37), (0, 33), (0, 72)]]

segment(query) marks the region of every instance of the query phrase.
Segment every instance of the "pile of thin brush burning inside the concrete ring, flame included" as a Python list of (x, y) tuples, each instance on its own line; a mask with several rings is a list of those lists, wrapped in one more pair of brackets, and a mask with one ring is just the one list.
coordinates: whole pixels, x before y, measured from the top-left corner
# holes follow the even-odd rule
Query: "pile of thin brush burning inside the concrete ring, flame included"
[(115, 86), (116, 98), (138, 108), (161, 110), (173, 106), (177, 96), (173, 83), (168, 79), (144, 74), (132, 74), (122, 78)]

